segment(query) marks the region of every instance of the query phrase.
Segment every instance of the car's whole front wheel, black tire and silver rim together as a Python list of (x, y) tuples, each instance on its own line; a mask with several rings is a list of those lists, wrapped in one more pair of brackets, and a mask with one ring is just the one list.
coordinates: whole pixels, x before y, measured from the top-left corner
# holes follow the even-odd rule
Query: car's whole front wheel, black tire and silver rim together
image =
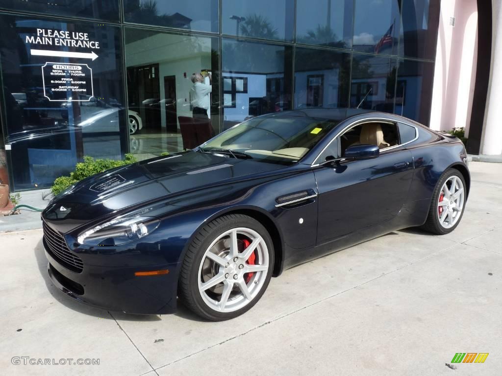
[(237, 317), (262, 297), (272, 276), (274, 250), (263, 225), (240, 214), (206, 225), (183, 260), (179, 296), (212, 321)]

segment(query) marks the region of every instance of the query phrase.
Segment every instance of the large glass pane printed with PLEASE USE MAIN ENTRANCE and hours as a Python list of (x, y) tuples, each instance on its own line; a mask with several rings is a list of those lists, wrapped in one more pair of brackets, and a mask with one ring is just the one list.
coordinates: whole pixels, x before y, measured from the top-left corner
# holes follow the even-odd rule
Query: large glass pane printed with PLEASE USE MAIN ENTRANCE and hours
[(6, 141), (16, 190), (50, 186), (84, 155), (126, 151), (120, 30), (0, 15)]

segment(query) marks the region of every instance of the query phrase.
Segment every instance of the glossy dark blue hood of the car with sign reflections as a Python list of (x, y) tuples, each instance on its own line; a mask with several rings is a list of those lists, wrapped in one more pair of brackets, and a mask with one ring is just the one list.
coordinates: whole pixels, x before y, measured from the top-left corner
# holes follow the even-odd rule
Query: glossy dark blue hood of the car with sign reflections
[(148, 159), (82, 180), (69, 193), (56, 197), (42, 216), (66, 232), (142, 203), (215, 184), (275, 174), (284, 168), (281, 164), (195, 151)]

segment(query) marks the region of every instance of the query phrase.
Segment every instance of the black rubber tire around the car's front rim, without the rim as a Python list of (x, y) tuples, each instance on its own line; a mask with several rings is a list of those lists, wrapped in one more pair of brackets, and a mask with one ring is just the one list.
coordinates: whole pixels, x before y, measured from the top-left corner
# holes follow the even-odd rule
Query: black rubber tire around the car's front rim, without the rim
[[(232, 312), (218, 312), (203, 300), (199, 292), (199, 267), (211, 243), (226, 231), (234, 228), (248, 228), (256, 231), (265, 241), (269, 265), (265, 281), (258, 294), (244, 307)], [(204, 226), (194, 237), (182, 262), (178, 284), (178, 296), (182, 303), (195, 314), (211, 321), (224, 321), (237, 317), (252, 308), (267, 289), (274, 268), (274, 248), (272, 239), (265, 227), (257, 220), (241, 215), (229, 214), (213, 220)]]

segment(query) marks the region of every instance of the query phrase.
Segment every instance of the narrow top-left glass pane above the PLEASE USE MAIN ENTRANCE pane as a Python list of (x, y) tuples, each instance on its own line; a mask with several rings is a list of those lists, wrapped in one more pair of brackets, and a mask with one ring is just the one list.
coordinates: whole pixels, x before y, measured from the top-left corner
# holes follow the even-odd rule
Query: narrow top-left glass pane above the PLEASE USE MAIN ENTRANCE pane
[(35, 12), (48, 16), (70, 16), (96, 20), (118, 21), (119, 0), (2, 0), (0, 9)]

